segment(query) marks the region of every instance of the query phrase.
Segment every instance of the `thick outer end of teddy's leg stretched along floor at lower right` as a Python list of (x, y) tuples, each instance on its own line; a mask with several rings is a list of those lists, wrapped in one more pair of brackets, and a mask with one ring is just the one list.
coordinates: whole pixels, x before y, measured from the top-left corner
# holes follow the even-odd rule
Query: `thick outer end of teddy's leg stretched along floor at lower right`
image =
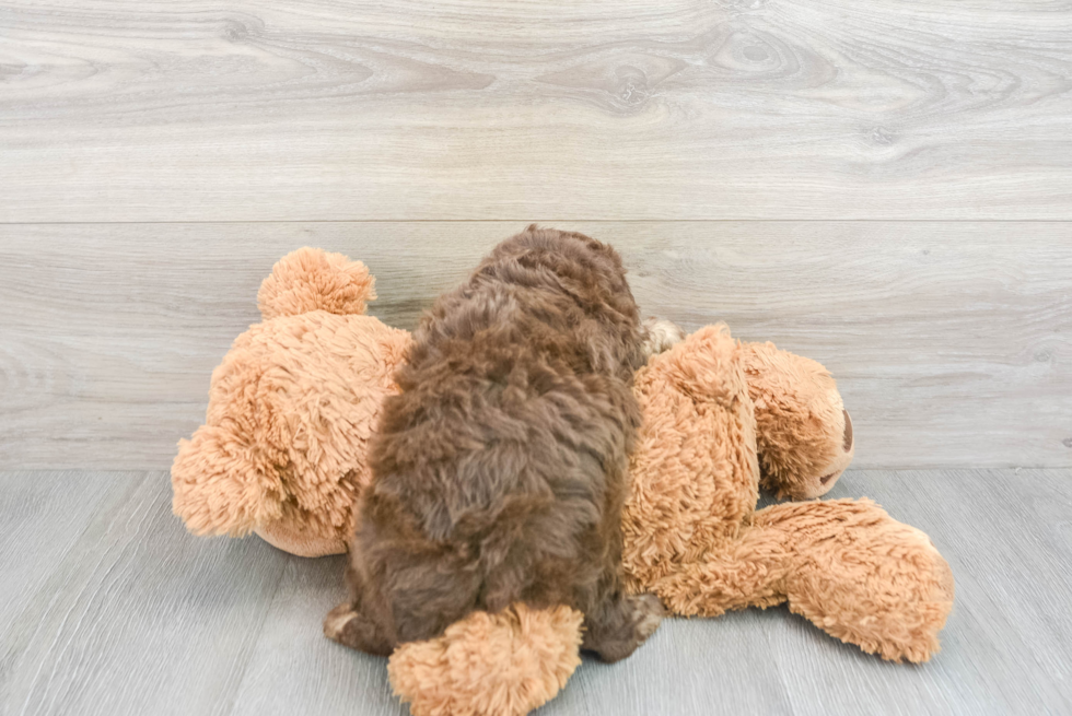
[(790, 609), (884, 659), (927, 661), (953, 608), (949, 565), (920, 530), (869, 500), (788, 503), (756, 513), (795, 555)]

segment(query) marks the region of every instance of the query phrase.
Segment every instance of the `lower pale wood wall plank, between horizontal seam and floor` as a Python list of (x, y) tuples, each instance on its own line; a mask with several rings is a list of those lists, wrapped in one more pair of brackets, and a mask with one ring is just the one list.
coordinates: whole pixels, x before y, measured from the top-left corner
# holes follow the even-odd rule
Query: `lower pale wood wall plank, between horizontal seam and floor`
[[(1072, 465), (1072, 225), (569, 223), (642, 309), (834, 372), (858, 467)], [(515, 223), (0, 226), (0, 467), (165, 469), (209, 376), (308, 244), (363, 259), (411, 328)]]

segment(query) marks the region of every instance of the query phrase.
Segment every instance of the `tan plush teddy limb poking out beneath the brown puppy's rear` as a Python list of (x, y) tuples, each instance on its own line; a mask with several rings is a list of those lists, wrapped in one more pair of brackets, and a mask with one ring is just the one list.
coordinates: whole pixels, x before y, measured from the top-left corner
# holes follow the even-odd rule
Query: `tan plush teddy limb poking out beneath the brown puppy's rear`
[(581, 664), (583, 620), (564, 606), (473, 612), (442, 636), (399, 646), (387, 672), (413, 716), (524, 716)]

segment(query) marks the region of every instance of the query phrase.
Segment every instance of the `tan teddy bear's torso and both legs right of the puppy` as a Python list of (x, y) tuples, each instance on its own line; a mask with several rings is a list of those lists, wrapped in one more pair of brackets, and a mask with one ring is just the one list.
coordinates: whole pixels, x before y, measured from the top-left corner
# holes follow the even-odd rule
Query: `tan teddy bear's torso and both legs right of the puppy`
[(622, 514), (631, 589), (690, 617), (789, 602), (892, 660), (939, 650), (953, 575), (925, 535), (869, 500), (756, 510), (760, 481), (815, 496), (852, 457), (851, 422), (820, 365), (708, 327), (654, 356), (634, 389), (645, 420)]

